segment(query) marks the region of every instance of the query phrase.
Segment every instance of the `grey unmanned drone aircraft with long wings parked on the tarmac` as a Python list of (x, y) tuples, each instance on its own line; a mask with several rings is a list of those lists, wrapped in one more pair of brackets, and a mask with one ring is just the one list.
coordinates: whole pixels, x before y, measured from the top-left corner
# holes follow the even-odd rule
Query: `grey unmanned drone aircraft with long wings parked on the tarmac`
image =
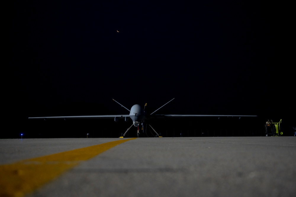
[[(173, 98), (172, 100), (174, 100), (175, 98)], [(114, 100), (114, 99), (113, 99)], [(172, 100), (170, 100), (169, 102), (171, 102)], [(116, 100), (114, 100), (115, 102), (117, 102)], [(165, 106), (166, 104), (168, 104), (169, 102), (165, 103), (163, 106)], [(119, 102), (117, 102), (119, 105), (121, 105)], [(128, 132), (129, 129), (131, 129), (132, 126), (136, 126), (138, 127), (138, 132), (137, 132), (137, 136), (139, 137), (140, 132), (139, 132), (139, 125), (141, 124), (142, 128), (143, 128), (143, 132), (144, 132), (144, 125), (146, 124), (147, 120), (149, 118), (163, 118), (163, 117), (194, 117), (194, 116), (248, 116), (248, 117), (256, 117), (255, 115), (197, 115), (197, 114), (156, 114), (154, 115), (154, 113), (159, 110), (160, 108), (162, 108), (163, 106), (161, 106), (160, 108), (158, 108), (157, 110), (155, 110), (154, 112), (147, 114), (147, 112), (145, 111), (145, 107), (147, 106), (147, 103), (144, 105), (144, 108), (141, 107), (141, 105), (136, 104), (133, 105), (131, 107), (131, 110), (129, 110), (128, 108), (124, 107), (123, 105), (121, 105), (121, 107), (125, 108), (126, 110), (128, 110), (130, 113), (126, 114), (126, 115), (94, 115), (94, 116), (47, 116), (47, 117), (29, 117), (30, 119), (54, 119), (54, 118), (62, 118), (62, 119), (67, 119), (67, 118), (114, 118), (114, 121), (118, 121), (118, 118), (125, 118), (125, 121), (128, 121), (128, 117), (131, 118), (133, 120), (133, 124), (126, 130), (126, 132), (123, 134), (123, 136), (125, 136), (125, 134)], [(160, 137), (159, 134), (155, 131), (155, 129), (153, 129), (153, 127), (150, 124), (146, 124), (149, 125), (152, 130), (156, 133), (157, 137)], [(121, 137), (123, 137), (121, 136)]]

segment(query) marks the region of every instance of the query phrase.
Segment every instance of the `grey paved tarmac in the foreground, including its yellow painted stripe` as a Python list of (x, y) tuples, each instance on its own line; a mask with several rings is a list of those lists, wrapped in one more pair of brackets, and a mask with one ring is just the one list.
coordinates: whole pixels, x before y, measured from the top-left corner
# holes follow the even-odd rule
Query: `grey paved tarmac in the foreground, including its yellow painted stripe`
[(295, 196), (296, 137), (0, 139), (0, 196)]

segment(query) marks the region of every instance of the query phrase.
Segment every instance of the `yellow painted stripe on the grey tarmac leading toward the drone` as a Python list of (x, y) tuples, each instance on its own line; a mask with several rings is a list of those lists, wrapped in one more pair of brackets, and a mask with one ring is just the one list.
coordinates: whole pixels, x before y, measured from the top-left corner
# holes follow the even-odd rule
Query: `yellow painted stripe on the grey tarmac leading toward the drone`
[(22, 197), (53, 180), (66, 170), (128, 140), (79, 148), (62, 153), (0, 165), (0, 196)]

